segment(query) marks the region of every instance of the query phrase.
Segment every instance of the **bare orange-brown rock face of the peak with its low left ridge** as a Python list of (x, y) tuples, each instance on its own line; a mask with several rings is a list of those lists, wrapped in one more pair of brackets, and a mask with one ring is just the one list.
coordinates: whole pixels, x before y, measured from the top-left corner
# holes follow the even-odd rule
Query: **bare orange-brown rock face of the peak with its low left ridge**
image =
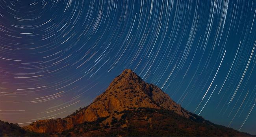
[(91, 105), (75, 115), (63, 119), (39, 120), (23, 128), (39, 133), (62, 132), (73, 128), (76, 124), (96, 121), (101, 117), (115, 115), (115, 112), (134, 108), (173, 110), (186, 118), (193, 118), (160, 88), (144, 82), (132, 70), (126, 69), (110, 83), (104, 93), (96, 97)]

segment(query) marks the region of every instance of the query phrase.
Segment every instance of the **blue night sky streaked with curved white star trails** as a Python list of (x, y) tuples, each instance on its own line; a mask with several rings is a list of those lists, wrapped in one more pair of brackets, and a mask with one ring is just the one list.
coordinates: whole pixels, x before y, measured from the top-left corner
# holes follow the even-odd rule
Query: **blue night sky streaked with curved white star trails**
[(256, 134), (256, 0), (0, 0), (0, 119), (89, 105), (125, 68)]

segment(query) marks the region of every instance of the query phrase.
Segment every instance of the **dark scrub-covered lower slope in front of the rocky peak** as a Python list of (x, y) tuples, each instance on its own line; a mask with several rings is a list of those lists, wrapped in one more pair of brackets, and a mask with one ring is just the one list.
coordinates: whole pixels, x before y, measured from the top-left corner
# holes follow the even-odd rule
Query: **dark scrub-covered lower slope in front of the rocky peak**
[[(58, 136), (251, 136), (232, 128), (219, 126), (193, 114), (187, 119), (170, 110), (137, 108), (125, 110), (117, 117), (85, 122), (58, 133)], [(104, 122), (105, 121), (105, 122)]]

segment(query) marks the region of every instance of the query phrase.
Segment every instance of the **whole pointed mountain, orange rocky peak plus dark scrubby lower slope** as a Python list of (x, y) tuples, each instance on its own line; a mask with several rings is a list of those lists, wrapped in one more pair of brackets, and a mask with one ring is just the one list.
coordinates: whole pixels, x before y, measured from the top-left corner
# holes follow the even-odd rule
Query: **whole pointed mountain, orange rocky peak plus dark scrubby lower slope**
[(63, 119), (39, 120), (23, 128), (52, 136), (251, 136), (188, 112), (130, 69), (91, 105)]

